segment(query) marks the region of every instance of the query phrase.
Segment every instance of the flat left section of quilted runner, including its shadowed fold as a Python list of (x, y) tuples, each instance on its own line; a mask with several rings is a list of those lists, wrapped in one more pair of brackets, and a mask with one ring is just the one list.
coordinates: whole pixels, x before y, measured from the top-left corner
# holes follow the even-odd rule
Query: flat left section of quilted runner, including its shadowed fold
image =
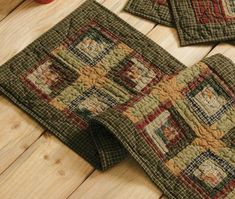
[(94, 167), (127, 152), (88, 121), (185, 68), (93, 0), (0, 67), (0, 90)]

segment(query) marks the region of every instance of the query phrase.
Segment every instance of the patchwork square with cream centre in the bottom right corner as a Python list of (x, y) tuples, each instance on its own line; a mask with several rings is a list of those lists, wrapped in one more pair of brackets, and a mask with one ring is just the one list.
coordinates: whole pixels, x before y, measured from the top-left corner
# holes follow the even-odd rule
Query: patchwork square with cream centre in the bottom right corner
[(204, 198), (224, 198), (235, 187), (234, 167), (210, 150), (194, 159), (181, 178)]

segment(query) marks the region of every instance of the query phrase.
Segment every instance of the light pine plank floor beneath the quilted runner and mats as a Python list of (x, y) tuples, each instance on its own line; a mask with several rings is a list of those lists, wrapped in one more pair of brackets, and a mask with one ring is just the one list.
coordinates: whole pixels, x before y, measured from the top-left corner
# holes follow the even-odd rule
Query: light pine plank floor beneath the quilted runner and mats
[[(85, 0), (0, 0), (0, 65), (75, 10)], [(226, 43), (180, 47), (175, 29), (122, 11), (127, 0), (97, 0), (146, 34), (187, 66), (222, 53), (235, 61)], [(1, 199), (157, 199), (165, 198), (131, 158), (100, 172), (0, 96)]]

